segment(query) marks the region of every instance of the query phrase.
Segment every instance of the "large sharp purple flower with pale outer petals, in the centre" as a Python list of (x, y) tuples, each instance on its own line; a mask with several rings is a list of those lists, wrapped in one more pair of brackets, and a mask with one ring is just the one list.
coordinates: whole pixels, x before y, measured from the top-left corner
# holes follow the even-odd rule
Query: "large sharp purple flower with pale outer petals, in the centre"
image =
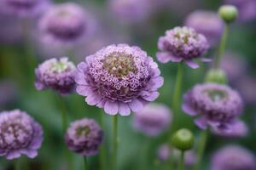
[(104, 108), (109, 115), (130, 115), (159, 96), (160, 70), (141, 48), (110, 45), (78, 65), (77, 93), (88, 105)]

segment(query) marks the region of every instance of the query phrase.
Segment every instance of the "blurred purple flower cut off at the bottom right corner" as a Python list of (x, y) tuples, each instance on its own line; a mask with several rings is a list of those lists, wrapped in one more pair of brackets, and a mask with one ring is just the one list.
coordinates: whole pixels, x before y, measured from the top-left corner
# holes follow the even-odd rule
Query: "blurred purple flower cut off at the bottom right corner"
[(228, 145), (212, 156), (211, 170), (254, 170), (256, 159), (249, 150)]

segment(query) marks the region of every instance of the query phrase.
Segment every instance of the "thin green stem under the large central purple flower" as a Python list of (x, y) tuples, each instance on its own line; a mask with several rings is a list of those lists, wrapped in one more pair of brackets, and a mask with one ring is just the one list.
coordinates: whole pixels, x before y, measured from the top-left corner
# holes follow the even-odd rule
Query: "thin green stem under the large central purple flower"
[(112, 165), (111, 170), (117, 169), (117, 150), (118, 150), (118, 116), (113, 116), (113, 147), (112, 147)]

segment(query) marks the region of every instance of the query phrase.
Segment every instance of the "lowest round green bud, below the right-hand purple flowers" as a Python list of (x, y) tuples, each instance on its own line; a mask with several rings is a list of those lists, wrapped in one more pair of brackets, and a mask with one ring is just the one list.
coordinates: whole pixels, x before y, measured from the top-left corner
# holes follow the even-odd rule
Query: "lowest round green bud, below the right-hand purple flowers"
[(172, 145), (178, 150), (190, 150), (194, 145), (194, 135), (187, 128), (179, 129), (172, 136)]

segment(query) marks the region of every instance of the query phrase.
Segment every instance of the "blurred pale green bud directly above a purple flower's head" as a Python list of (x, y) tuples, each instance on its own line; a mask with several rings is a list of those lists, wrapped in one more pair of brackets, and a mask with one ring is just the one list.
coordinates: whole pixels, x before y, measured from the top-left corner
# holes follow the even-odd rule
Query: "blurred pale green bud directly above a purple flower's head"
[(222, 69), (211, 69), (207, 72), (206, 82), (217, 82), (218, 84), (226, 84), (228, 78)]

